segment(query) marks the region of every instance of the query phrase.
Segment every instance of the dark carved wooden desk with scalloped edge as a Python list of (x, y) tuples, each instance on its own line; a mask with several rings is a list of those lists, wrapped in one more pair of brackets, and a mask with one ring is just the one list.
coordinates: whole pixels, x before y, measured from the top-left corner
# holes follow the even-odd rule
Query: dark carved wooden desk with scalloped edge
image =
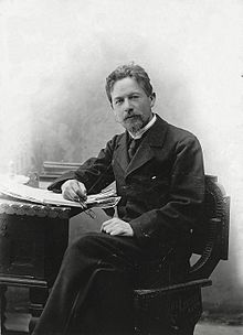
[(32, 321), (40, 316), (67, 247), (70, 214), (66, 207), (0, 198), (0, 334), (9, 285), (29, 288)]

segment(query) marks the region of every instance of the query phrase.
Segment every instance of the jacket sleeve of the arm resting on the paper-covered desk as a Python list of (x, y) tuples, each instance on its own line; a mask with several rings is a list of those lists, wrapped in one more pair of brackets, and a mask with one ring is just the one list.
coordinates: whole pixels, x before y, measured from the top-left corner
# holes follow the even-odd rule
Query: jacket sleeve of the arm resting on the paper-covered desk
[(116, 145), (115, 136), (106, 148), (102, 149), (97, 158), (91, 158), (84, 162), (76, 171), (68, 171), (56, 179), (47, 190), (61, 192), (61, 186), (67, 180), (77, 180), (87, 188), (87, 193), (98, 193), (114, 181), (112, 159), (114, 147)]

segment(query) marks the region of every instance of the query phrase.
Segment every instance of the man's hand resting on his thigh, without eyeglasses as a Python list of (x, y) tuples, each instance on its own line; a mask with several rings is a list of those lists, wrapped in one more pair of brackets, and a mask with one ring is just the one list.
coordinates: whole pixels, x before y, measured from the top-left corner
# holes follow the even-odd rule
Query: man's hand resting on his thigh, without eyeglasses
[(109, 235), (134, 236), (134, 230), (130, 225), (118, 217), (114, 217), (102, 224), (102, 231)]

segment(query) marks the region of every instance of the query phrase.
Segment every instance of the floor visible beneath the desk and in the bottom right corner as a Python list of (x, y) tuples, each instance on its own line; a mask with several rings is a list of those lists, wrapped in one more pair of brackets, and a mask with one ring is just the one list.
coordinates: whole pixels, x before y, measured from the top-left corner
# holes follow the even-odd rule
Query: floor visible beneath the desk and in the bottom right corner
[[(24, 313), (7, 313), (8, 335), (25, 335), (28, 332), (28, 322), (30, 314)], [(18, 332), (19, 331), (19, 332)], [(18, 332), (18, 333), (15, 333)], [(196, 326), (194, 335), (242, 335), (243, 326), (222, 325), (218, 323), (201, 322)]]

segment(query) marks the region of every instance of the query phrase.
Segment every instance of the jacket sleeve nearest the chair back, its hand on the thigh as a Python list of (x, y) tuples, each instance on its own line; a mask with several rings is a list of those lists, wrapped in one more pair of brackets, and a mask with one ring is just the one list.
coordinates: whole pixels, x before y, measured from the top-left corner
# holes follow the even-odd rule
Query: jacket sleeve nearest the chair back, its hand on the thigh
[(204, 201), (202, 150), (194, 137), (177, 143), (166, 205), (144, 213), (130, 221), (135, 236), (142, 242), (182, 239), (190, 229), (200, 228)]

